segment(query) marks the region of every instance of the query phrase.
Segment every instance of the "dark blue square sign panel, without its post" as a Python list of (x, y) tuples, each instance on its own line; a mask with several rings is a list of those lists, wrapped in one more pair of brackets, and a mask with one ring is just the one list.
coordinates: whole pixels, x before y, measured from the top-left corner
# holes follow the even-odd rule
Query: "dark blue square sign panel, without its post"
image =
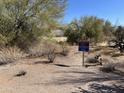
[(89, 42), (88, 41), (79, 42), (78, 50), (88, 52), (89, 51)]

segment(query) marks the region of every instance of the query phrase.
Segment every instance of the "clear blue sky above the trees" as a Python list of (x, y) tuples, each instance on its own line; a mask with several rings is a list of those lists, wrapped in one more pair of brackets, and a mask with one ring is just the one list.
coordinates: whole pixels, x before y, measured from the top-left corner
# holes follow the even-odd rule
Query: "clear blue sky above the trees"
[(124, 0), (68, 0), (64, 23), (81, 16), (97, 16), (124, 25)]

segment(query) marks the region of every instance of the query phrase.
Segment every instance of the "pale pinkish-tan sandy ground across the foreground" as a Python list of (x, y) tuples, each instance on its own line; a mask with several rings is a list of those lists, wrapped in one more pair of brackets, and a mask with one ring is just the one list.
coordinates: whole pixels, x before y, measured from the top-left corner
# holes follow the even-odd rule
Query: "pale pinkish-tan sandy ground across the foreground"
[[(91, 54), (87, 53), (85, 56)], [(69, 56), (59, 56), (51, 64), (46, 64), (46, 60), (41, 58), (27, 58), (17, 61), (16, 64), (1, 66), (0, 93), (85, 93), (80, 89), (89, 90), (88, 85), (93, 82), (108, 86), (124, 85), (124, 76), (100, 72), (100, 66), (82, 67), (81, 56), (77, 47), (73, 47)], [(123, 60), (124, 57), (121, 57), (121, 61)], [(14, 77), (22, 70), (27, 72), (25, 76)]]

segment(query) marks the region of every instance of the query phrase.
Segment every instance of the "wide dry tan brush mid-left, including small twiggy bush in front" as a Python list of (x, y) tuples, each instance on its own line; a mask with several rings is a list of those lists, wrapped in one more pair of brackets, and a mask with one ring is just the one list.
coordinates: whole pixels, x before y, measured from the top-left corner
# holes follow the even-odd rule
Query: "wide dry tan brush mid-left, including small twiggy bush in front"
[(66, 56), (68, 54), (67, 45), (52, 40), (44, 40), (29, 48), (30, 57), (43, 56), (46, 57), (50, 63), (55, 60), (56, 54)]

